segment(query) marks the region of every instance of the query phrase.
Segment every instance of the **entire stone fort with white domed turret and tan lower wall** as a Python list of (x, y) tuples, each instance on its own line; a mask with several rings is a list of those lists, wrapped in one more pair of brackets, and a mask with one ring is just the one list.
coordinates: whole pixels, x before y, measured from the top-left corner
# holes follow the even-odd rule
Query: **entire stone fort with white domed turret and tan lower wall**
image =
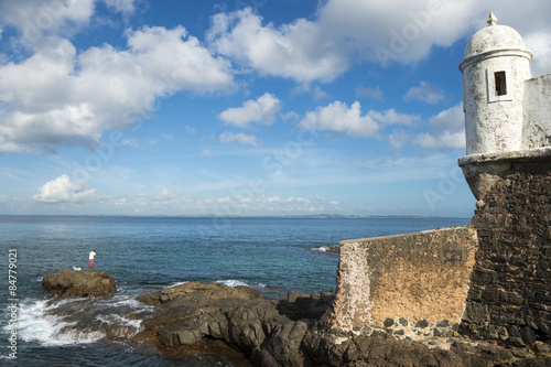
[(497, 25), (465, 48), (471, 225), (339, 244), (328, 327), (522, 346), (551, 338), (551, 74), (531, 78), (522, 37)]

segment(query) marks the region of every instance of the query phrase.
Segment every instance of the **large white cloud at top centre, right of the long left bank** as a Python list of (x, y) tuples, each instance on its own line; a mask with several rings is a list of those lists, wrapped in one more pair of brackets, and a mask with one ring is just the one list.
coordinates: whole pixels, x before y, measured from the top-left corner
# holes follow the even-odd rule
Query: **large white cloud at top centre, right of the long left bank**
[(305, 19), (279, 28), (262, 25), (262, 18), (247, 8), (216, 14), (212, 22), (210, 46), (263, 75), (329, 82), (348, 66), (339, 45), (324, 39), (318, 24)]

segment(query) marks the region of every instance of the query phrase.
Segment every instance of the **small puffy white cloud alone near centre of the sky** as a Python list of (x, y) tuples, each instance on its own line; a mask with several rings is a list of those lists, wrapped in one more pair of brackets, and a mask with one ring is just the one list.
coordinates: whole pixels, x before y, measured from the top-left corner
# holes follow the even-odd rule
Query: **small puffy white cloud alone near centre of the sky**
[(223, 121), (239, 128), (247, 128), (252, 122), (271, 125), (276, 114), (281, 109), (281, 101), (266, 93), (257, 100), (247, 100), (242, 107), (228, 108), (219, 117)]

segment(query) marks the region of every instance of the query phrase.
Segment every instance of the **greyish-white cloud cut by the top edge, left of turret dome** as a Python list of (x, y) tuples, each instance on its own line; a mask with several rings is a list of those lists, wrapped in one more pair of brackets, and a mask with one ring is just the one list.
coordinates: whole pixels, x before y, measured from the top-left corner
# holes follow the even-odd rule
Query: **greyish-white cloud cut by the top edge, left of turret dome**
[(432, 45), (449, 46), (465, 34), (476, 2), (451, 0), (328, 0), (317, 23), (327, 36), (345, 40), (350, 50), (381, 62), (415, 62)]

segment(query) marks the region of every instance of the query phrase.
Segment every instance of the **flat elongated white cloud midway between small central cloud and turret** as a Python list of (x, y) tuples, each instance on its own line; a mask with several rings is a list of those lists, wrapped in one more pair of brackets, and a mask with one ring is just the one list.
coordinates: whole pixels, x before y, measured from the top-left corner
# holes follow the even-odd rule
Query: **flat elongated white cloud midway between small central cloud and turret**
[(348, 107), (345, 102), (336, 100), (309, 111), (299, 126), (310, 130), (346, 132), (350, 137), (377, 138), (381, 126), (411, 125), (419, 119), (415, 115), (399, 114), (393, 109), (382, 112), (370, 110), (361, 115), (359, 101)]

